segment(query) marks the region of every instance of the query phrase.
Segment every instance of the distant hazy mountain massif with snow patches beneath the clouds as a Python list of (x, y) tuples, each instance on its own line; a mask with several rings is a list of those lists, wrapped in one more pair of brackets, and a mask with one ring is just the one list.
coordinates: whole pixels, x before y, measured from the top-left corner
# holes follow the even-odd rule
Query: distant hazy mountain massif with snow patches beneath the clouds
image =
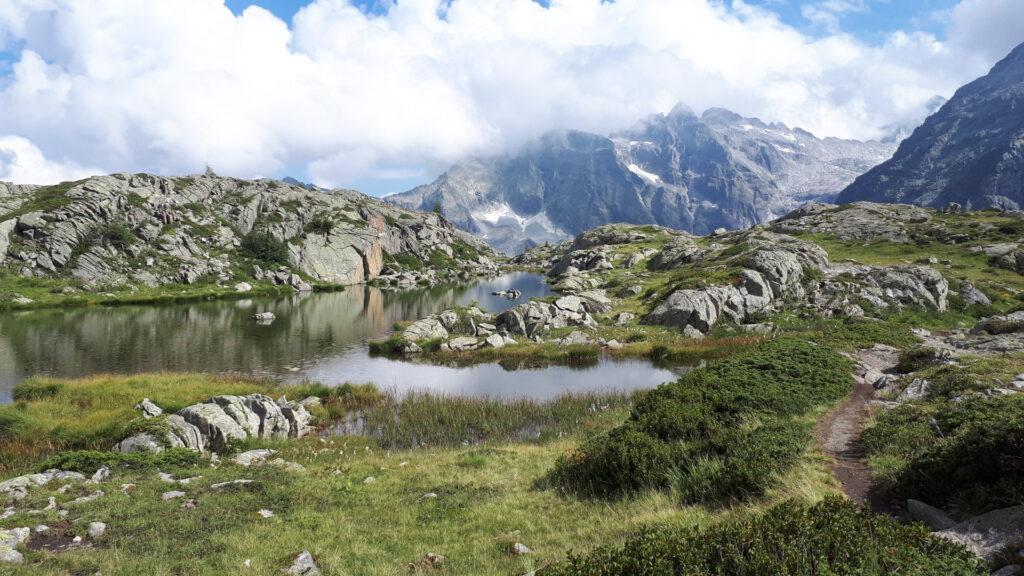
[(514, 156), (460, 163), (386, 200), (440, 206), (457, 225), (510, 253), (609, 222), (707, 234), (833, 200), (894, 148), (819, 139), (721, 109), (697, 117), (680, 105), (608, 137), (549, 133)]

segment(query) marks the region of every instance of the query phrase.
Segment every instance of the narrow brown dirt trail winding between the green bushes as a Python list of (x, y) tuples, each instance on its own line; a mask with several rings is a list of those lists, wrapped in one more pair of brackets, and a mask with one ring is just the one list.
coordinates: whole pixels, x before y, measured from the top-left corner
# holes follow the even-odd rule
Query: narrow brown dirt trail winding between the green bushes
[(850, 500), (877, 512), (897, 516), (894, 502), (878, 490), (860, 443), (873, 394), (871, 384), (858, 378), (853, 394), (818, 422), (814, 434), (821, 450), (830, 457), (829, 467)]

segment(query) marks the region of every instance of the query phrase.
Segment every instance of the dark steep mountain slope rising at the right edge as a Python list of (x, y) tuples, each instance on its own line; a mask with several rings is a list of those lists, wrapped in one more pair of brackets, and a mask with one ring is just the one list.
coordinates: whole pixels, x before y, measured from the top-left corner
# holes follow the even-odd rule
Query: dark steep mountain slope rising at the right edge
[(1024, 44), (964, 86), (840, 202), (1024, 205)]

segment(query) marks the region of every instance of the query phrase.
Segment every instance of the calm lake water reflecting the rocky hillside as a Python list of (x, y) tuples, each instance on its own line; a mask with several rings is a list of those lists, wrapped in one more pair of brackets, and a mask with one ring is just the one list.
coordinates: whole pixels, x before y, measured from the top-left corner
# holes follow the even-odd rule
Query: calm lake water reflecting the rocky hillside
[[(514, 288), (518, 300), (492, 295)], [(35, 375), (236, 372), (282, 381), (374, 382), (386, 389), (547, 399), (566, 392), (633, 389), (671, 380), (646, 361), (602, 360), (587, 368), (506, 370), (497, 364), (432, 366), (367, 353), (368, 338), (392, 324), (477, 302), (500, 312), (550, 294), (544, 278), (508, 274), (468, 285), (344, 292), (170, 305), (44, 310), (0, 314), (0, 402)], [(272, 312), (269, 326), (252, 316)]]

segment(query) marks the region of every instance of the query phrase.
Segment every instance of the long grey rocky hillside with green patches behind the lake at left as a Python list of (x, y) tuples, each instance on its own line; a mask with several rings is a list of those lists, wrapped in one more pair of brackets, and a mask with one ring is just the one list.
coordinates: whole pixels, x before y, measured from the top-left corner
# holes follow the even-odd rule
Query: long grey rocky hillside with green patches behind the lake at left
[(0, 249), (0, 265), (87, 288), (254, 278), (347, 285), (400, 272), (403, 254), (453, 264), (444, 272), (494, 270), (485, 245), (436, 214), (351, 191), (212, 174), (4, 184)]

